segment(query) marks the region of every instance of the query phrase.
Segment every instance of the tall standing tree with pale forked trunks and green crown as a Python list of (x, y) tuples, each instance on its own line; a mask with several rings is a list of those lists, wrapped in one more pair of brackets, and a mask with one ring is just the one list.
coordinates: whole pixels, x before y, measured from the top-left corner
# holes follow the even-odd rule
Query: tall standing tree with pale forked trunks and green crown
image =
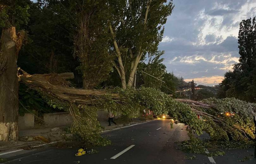
[(172, 0), (169, 3), (166, 0), (109, 0), (107, 4), (111, 15), (111, 50), (116, 52), (115, 68), (122, 88), (126, 89), (132, 87), (135, 71), (143, 57), (157, 52), (163, 38), (163, 25), (174, 5)]

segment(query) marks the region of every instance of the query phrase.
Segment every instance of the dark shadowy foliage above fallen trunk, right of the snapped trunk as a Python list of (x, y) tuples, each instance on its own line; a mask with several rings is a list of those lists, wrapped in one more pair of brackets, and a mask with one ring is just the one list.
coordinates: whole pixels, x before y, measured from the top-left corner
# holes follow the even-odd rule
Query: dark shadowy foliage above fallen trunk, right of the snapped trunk
[(73, 57), (74, 23), (65, 10), (69, 5), (56, 0), (38, 0), (30, 5), (30, 21), (24, 26), (28, 40), (20, 51), (19, 67), (30, 74), (75, 72), (79, 63)]

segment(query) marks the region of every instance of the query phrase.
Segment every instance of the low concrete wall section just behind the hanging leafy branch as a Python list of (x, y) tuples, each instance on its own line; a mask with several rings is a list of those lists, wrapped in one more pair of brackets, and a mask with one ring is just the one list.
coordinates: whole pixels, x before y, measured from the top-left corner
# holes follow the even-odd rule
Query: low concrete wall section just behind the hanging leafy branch
[(69, 125), (73, 118), (68, 112), (46, 113), (43, 114), (43, 120), (48, 127)]

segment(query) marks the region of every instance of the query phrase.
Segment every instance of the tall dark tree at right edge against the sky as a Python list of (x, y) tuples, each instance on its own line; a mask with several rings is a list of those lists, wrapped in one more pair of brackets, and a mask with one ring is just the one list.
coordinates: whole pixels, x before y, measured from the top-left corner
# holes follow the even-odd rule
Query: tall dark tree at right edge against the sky
[(242, 20), (238, 36), (239, 63), (226, 72), (219, 97), (256, 102), (256, 18)]

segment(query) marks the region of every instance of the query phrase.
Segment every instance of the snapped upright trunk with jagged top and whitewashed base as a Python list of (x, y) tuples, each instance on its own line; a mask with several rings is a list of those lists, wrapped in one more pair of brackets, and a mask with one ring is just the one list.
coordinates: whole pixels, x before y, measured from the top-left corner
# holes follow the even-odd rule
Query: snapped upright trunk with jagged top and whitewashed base
[(15, 27), (4, 28), (0, 52), (0, 141), (18, 139), (18, 77), (17, 59), (25, 32), (16, 36)]

